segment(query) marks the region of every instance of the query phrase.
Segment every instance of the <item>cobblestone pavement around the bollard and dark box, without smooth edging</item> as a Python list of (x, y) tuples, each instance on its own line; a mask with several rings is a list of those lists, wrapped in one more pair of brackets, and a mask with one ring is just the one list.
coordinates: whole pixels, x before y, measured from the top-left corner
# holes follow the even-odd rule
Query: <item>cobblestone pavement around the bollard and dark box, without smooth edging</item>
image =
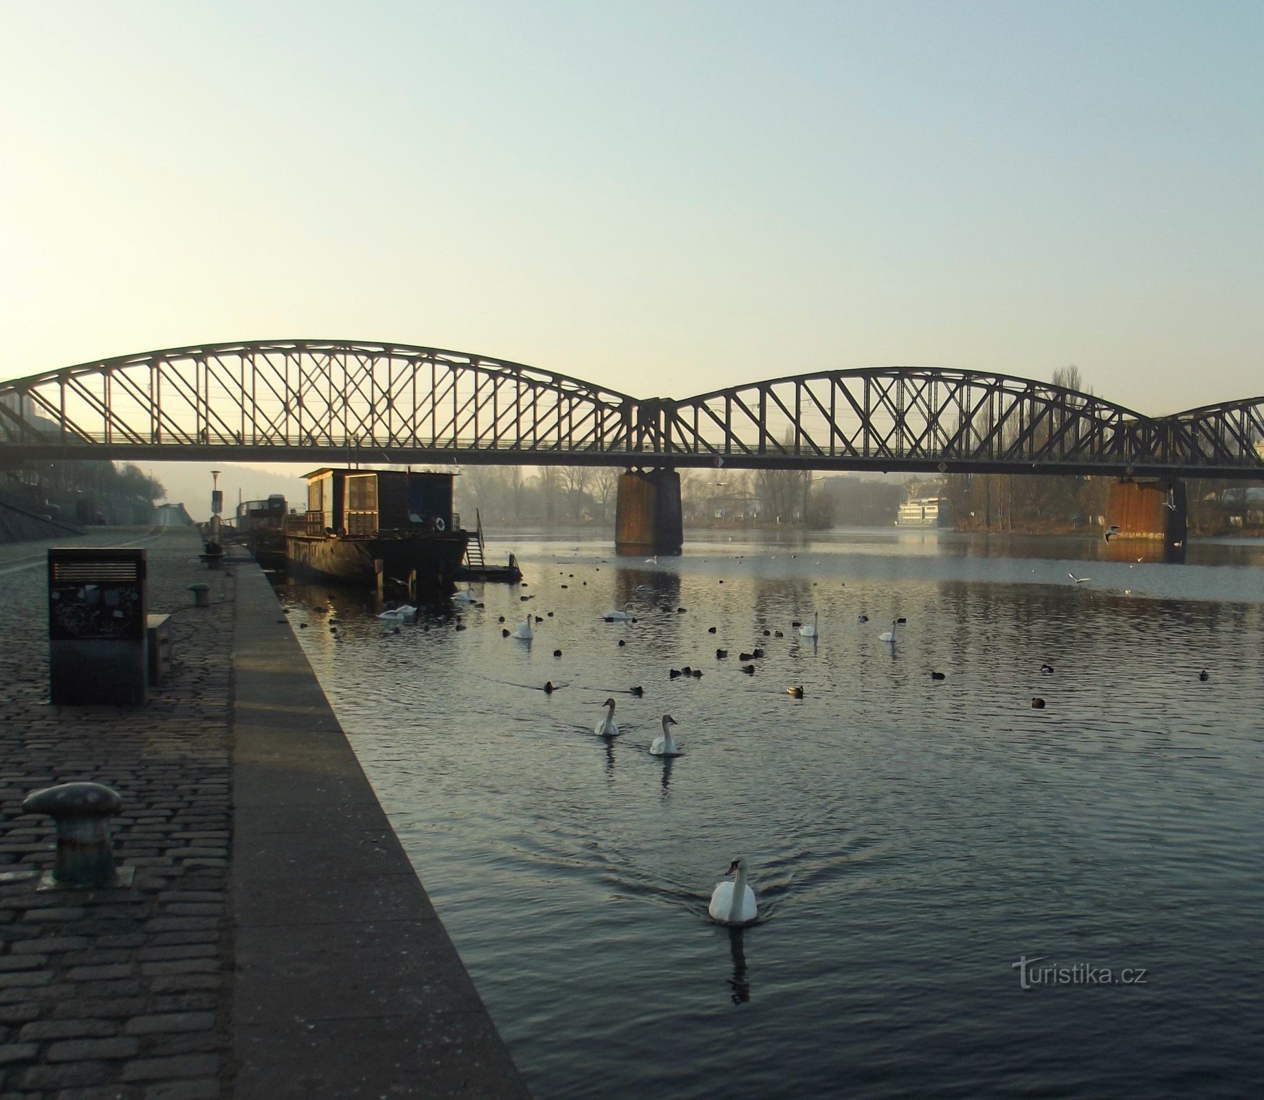
[[(128, 539), (148, 549), (150, 613), (174, 612), (173, 673), (143, 722), (125, 707), (52, 707), (44, 549)], [(115, 856), (137, 869), (130, 889), (0, 884), (0, 1100), (228, 1096), (235, 578), (200, 549), (192, 529), (0, 547), (0, 872), (52, 862), (52, 822), (20, 804), (71, 780), (123, 795)], [(198, 580), (210, 608), (191, 606)]]

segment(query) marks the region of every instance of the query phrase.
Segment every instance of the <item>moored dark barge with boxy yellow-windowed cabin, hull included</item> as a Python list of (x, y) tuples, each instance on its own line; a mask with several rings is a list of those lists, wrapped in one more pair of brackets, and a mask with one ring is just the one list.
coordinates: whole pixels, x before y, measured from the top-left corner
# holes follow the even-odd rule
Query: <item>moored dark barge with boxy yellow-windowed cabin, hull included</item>
[(469, 532), (453, 512), (453, 474), (324, 467), (307, 479), (307, 513), (286, 523), (295, 573), (344, 584), (442, 593)]

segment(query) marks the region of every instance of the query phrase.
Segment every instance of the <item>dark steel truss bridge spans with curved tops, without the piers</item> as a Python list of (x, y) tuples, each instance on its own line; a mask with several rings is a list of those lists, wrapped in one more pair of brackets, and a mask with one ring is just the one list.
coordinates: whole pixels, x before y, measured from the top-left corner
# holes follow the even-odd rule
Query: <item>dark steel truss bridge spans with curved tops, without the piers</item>
[(0, 463), (498, 463), (1264, 477), (1264, 397), (1152, 417), (1025, 378), (885, 367), (633, 397), (463, 351), (259, 340), (0, 383)]

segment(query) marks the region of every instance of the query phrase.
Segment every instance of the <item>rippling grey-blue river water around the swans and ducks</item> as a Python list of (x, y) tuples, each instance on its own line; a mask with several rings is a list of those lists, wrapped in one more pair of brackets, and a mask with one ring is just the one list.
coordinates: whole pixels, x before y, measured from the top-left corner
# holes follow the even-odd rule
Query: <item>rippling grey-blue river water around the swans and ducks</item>
[[(1264, 546), (689, 539), (520, 536), (527, 585), (464, 630), (282, 588), (541, 1100), (1256, 1095)], [(760, 918), (731, 931), (737, 856)]]

